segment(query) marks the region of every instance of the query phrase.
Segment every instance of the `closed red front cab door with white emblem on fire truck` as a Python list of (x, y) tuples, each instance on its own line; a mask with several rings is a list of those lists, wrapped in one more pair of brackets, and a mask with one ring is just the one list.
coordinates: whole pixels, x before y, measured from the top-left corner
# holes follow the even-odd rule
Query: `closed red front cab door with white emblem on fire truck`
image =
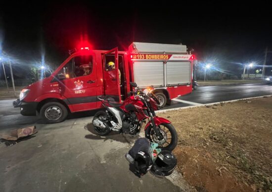
[(95, 56), (76, 56), (59, 72), (60, 94), (67, 98), (74, 111), (91, 110), (97, 105)]

